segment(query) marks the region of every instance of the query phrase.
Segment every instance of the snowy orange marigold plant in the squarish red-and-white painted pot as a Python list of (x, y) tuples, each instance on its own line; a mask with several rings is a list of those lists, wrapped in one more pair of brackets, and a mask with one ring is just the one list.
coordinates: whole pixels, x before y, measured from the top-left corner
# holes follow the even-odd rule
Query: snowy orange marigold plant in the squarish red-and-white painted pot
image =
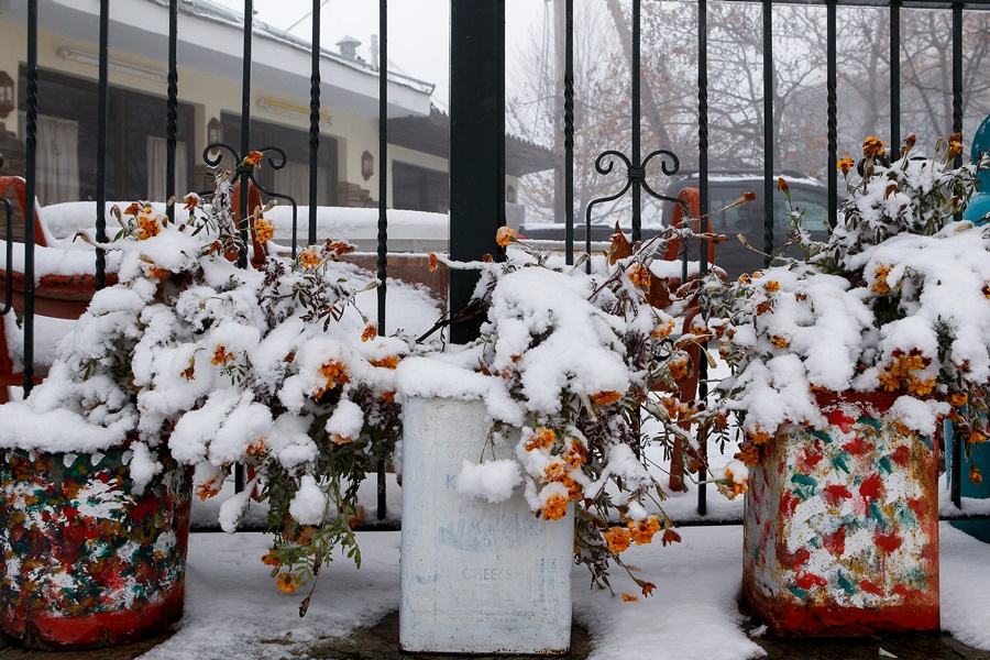
[(733, 372), (718, 389), (719, 430), (736, 414), (744, 462), (785, 422), (823, 425), (816, 392), (898, 393), (891, 414), (908, 429), (933, 435), (948, 418), (968, 447), (987, 439), (990, 233), (954, 216), (990, 156), (954, 167), (958, 134), (928, 158), (914, 144), (890, 161), (868, 138), (858, 179), (851, 158), (838, 162), (849, 197), (826, 241), (812, 241), (793, 209), (806, 261), (708, 280), (710, 323)]

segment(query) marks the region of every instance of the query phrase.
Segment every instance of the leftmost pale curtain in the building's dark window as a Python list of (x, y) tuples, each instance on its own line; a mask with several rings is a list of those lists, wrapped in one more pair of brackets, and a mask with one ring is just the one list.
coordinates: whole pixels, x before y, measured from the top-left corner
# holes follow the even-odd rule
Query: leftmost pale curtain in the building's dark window
[(36, 153), (38, 201), (79, 201), (79, 123), (38, 116)]

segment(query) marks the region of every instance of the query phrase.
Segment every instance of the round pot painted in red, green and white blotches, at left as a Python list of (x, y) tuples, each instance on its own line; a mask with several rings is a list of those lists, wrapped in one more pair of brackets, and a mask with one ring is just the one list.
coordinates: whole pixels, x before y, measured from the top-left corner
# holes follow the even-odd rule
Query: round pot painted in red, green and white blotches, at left
[(0, 454), (0, 629), (35, 648), (125, 644), (183, 612), (191, 480), (135, 487), (130, 451)]

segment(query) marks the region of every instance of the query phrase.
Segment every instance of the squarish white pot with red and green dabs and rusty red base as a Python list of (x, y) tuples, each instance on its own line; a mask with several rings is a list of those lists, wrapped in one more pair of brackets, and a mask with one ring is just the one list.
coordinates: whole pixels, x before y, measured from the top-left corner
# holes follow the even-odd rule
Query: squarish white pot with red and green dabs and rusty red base
[(895, 394), (823, 394), (829, 426), (783, 429), (746, 493), (743, 595), (779, 635), (937, 630), (937, 449)]

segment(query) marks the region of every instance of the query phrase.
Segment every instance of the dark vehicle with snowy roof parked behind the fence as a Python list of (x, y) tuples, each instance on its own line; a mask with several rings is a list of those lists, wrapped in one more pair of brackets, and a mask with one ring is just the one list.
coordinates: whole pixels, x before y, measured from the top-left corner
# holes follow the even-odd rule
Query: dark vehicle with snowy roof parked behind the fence
[[(781, 176), (788, 182), (791, 190), (791, 202), (795, 209), (804, 211), (802, 227), (807, 229), (812, 237), (822, 240), (828, 235), (828, 190), (821, 182), (793, 170), (782, 170), (774, 176)], [(776, 180), (776, 179), (774, 179)], [(667, 188), (666, 195), (676, 197), (684, 188), (696, 188), (698, 177), (696, 173), (674, 177)], [(715, 212), (711, 216), (711, 229), (715, 233), (725, 234), (729, 240), (721, 243), (715, 249), (715, 264), (722, 267), (729, 277), (738, 277), (743, 273), (759, 270), (766, 265), (766, 257), (750, 250), (738, 240), (743, 234), (749, 245), (762, 252), (765, 250), (763, 238), (763, 173), (755, 169), (717, 170), (708, 174), (708, 208), (712, 211), (725, 208), (739, 199), (744, 193), (756, 193), (756, 200), (745, 204), (728, 211)], [(642, 237), (649, 239), (660, 231), (660, 227), (668, 227), (673, 218), (674, 205), (663, 202), (663, 224), (644, 224)], [(787, 243), (790, 232), (790, 218), (788, 216), (788, 200), (783, 193), (777, 190), (774, 183), (773, 194), (773, 246), (774, 250)], [(620, 223), (620, 229), (627, 234), (632, 232), (628, 219)], [(593, 222), (591, 226), (592, 241), (608, 241), (615, 231), (615, 222)], [(521, 238), (541, 241), (563, 241), (564, 226), (562, 223), (524, 223), (519, 227)], [(574, 223), (575, 249), (581, 250), (584, 244), (585, 224)], [(800, 257), (796, 246), (789, 249), (788, 256)], [(693, 255), (692, 255), (693, 256)], [(696, 258), (696, 257), (695, 257)]]

